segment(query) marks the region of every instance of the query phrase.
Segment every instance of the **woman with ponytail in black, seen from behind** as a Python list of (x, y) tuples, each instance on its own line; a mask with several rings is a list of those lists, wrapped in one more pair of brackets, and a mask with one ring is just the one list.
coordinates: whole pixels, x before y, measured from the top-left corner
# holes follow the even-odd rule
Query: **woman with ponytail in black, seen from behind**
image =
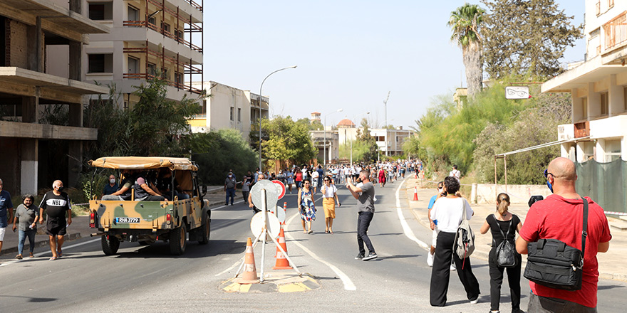
[[(501, 285), (503, 283), (503, 271), (506, 267), (497, 264), (496, 249), (503, 240), (514, 243), (516, 232), (522, 228), (522, 223), (517, 215), (508, 211), (509, 196), (507, 193), (500, 193), (497, 196), (497, 211), (485, 218), (480, 232), (482, 234), (491, 230), (492, 250), (489, 252), (488, 264), (490, 274), (490, 312), (499, 311), (499, 301), (501, 299)], [(507, 238), (505, 238), (507, 237)], [(512, 312), (522, 312), (520, 310), (520, 263), (522, 258), (516, 253), (516, 265), (507, 267), (507, 281), (509, 282), (509, 295), (512, 297)]]

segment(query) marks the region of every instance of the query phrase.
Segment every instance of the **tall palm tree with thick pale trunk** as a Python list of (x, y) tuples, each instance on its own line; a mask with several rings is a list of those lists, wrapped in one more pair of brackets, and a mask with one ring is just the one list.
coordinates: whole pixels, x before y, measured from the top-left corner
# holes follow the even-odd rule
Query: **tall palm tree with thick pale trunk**
[(482, 47), (480, 23), (485, 10), (477, 4), (464, 4), (451, 12), (447, 26), (452, 28), (451, 41), (457, 42), (462, 48), (468, 96), (472, 97), (481, 91), (483, 80)]

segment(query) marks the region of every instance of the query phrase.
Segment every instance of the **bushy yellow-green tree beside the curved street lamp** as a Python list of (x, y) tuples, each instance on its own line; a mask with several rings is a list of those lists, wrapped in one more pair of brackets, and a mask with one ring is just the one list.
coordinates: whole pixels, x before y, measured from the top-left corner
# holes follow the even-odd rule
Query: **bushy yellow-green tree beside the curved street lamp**
[[(318, 153), (309, 136), (309, 120), (307, 119), (294, 122), (289, 116), (274, 117), (272, 120), (261, 120), (261, 129), (265, 134), (261, 135), (261, 146), (266, 159), (305, 163), (316, 157)], [(251, 134), (252, 132), (254, 131), (251, 131)]]

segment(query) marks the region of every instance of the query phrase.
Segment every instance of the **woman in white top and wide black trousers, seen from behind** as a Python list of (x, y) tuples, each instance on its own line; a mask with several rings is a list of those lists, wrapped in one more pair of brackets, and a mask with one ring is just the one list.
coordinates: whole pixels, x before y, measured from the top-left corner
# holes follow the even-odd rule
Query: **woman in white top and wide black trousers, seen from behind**
[(437, 230), (439, 230), (431, 270), (430, 303), (432, 307), (444, 307), (446, 304), (446, 293), (450, 280), (450, 260), (452, 258), (457, 266), (457, 275), (466, 290), (466, 297), (470, 303), (474, 304), (479, 300), (480, 290), (477, 277), (472, 274), (470, 258), (462, 260), (453, 252), (455, 233), (464, 218), (464, 210), (466, 211), (465, 218), (468, 220), (474, 215), (474, 212), (465, 198), (455, 194), (460, 190), (460, 182), (455, 177), (446, 177), (444, 188), (447, 196), (435, 201), (430, 214), (431, 221), (437, 225)]

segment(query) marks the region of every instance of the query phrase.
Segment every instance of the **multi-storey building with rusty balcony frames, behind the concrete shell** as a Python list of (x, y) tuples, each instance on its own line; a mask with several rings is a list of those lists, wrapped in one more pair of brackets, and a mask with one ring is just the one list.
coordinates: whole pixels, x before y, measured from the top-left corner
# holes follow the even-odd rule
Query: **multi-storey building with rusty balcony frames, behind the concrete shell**
[(138, 102), (135, 86), (157, 75), (167, 80), (168, 99), (199, 97), (202, 90), (190, 82), (202, 80), (202, 0), (73, 1), (82, 1), (83, 16), (111, 29), (90, 34), (83, 49), (83, 80), (115, 85), (124, 107)]

